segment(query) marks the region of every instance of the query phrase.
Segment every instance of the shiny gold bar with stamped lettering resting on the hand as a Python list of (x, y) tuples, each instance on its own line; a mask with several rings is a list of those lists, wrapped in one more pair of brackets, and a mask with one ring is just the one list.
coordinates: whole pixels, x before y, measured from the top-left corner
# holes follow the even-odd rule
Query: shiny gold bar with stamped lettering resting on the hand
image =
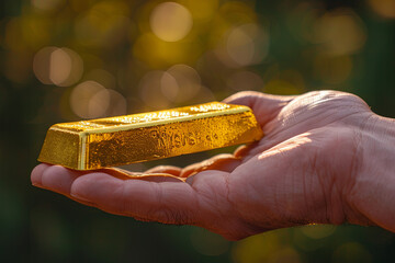
[(247, 106), (212, 102), (53, 125), (38, 161), (77, 170), (124, 165), (250, 142), (262, 137)]

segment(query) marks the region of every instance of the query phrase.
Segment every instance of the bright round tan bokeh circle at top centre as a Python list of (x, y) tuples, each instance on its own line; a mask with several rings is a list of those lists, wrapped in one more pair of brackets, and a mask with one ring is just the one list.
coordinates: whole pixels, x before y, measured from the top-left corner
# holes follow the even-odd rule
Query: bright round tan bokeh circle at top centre
[(193, 20), (185, 7), (176, 2), (163, 2), (153, 10), (149, 23), (154, 34), (160, 39), (177, 42), (188, 35)]

